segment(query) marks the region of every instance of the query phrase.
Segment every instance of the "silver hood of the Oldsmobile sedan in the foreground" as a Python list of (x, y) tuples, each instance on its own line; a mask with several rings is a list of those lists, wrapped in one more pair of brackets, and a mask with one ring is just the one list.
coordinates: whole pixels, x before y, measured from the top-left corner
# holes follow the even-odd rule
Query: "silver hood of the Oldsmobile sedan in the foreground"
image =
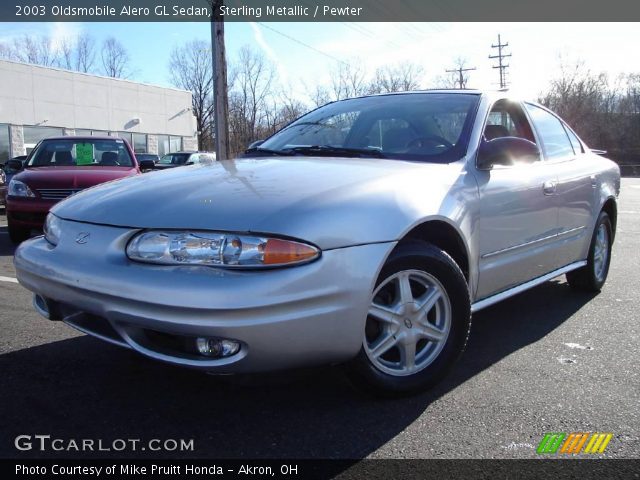
[(80, 222), (276, 234), (338, 248), (397, 239), (425, 207), (438, 211), (461, 169), (385, 159), (244, 158), (101, 185), (52, 212)]

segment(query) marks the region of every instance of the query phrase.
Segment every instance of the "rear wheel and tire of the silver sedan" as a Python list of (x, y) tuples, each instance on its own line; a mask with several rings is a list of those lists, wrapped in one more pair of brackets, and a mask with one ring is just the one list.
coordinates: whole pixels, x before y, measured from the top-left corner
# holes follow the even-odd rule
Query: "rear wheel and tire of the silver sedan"
[(612, 238), (613, 229), (609, 215), (606, 212), (600, 212), (591, 236), (587, 264), (566, 274), (569, 286), (587, 292), (599, 292), (602, 289), (611, 264)]

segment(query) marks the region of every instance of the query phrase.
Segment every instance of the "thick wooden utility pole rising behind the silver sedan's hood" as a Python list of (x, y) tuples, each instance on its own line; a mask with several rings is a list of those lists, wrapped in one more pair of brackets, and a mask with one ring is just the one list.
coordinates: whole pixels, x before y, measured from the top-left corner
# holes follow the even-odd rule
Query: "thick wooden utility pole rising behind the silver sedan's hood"
[(229, 158), (229, 95), (227, 93), (227, 60), (224, 47), (224, 19), (220, 7), (224, 0), (210, 0), (211, 60), (213, 62), (213, 122), (216, 160)]

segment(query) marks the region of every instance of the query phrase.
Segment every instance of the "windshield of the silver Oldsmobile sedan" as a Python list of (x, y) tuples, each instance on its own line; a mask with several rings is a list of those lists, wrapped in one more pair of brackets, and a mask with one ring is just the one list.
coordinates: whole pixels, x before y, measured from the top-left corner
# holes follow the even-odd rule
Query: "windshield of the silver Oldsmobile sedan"
[(477, 94), (461, 93), (343, 100), (308, 113), (251, 151), (333, 156), (369, 151), (386, 158), (452, 162), (466, 153), (479, 100)]

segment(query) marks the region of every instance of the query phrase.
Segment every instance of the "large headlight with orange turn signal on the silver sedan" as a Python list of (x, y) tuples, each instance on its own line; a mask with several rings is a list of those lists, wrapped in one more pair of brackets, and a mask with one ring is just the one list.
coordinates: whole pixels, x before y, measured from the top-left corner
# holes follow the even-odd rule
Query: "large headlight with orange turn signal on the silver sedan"
[(277, 267), (309, 262), (319, 255), (306, 243), (220, 232), (147, 231), (127, 245), (131, 260), (162, 265)]

